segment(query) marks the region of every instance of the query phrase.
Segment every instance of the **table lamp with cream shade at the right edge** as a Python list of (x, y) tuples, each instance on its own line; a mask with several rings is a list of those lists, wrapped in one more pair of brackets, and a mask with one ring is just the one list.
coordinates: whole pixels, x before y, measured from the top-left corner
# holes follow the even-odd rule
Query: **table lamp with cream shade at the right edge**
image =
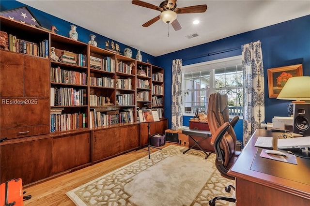
[(305, 100), (310, 100), (310, 76), (289, 78), (277, 99), (294, 100), (292, 103), (305, 103)]

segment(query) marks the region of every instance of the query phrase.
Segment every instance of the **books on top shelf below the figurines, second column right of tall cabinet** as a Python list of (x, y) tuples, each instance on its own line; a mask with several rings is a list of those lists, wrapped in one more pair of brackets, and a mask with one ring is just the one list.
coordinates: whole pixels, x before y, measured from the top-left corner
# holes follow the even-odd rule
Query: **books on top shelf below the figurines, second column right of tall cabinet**
[(110, 57), (101, 59), (93, 56), (90, 56), (89, 59), (90, 68), (115, 73), (115, 59)]

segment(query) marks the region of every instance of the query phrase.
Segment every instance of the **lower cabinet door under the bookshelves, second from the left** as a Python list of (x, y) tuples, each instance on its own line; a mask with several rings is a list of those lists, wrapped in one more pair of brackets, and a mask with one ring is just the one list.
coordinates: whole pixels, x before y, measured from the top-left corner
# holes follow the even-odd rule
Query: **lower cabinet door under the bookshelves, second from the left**
[(91, 132), (53, 137), (53, 174), (91, 163)]

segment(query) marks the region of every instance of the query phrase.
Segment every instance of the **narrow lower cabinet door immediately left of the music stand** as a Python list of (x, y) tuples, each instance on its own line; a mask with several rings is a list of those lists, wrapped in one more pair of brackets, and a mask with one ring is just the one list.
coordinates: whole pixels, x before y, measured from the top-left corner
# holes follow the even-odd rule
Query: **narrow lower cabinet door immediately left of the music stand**
[(130, 125), (121, 128), (122, 151), (139, 147), (139, 125)]

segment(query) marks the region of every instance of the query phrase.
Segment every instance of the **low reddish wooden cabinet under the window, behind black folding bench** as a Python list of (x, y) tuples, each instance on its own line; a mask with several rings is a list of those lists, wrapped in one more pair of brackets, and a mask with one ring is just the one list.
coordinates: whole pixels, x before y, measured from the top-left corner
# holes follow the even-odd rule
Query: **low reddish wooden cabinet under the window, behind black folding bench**
[[(189, 121), (189, 129), (210, 131), (208, 122), (198, 122), (198, 121)], [(192, 137), (197, 141), (200, 141), (202, 139), (202, 137), (199, 136), (192, 136)], [(214, 147), (210, 145), (210, 143), (211, 143), (211, 137), (204, 139), (199, 145), (205, 151), (214, 152)], [(195, 145), (195, 143), (191, 138), (189, 138), (189, 147), (193, 145)], [(199, 147), (193, 147), (193, 148), (200, 149)]]

